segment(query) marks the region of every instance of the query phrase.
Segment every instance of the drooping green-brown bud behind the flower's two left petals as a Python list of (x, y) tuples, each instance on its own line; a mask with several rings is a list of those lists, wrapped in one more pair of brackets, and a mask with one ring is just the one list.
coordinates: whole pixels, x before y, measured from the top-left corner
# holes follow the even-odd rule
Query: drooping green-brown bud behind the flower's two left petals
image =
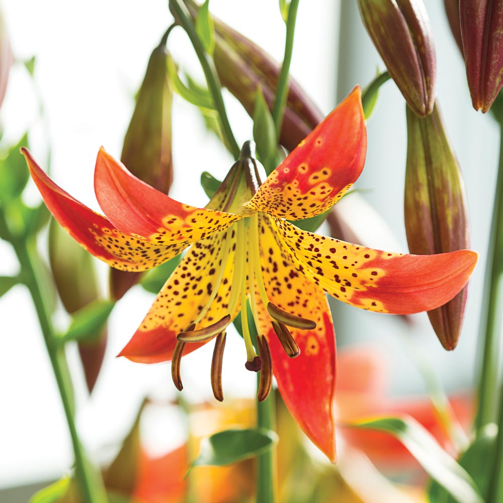
[[(173, 181), (171, 107), (173, 93), (167, 71), (167, 53), (161, 42), (150, 55), (138, 91), (121, 161), (143, 182), (167, 193)], [(140, 279), (141, 273), (110, 270), (110, 291), (120, 299)]]

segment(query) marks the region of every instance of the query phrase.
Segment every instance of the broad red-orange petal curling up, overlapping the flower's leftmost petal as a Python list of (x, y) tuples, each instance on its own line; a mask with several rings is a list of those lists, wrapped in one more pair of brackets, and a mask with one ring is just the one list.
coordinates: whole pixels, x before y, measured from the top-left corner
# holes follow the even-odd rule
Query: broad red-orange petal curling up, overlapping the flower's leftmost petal
[(157, 244), (190, 243), (242, 218), (175, 201), (136, 178), (103, 147), (96, 159), (95, 192), (118, 229)]

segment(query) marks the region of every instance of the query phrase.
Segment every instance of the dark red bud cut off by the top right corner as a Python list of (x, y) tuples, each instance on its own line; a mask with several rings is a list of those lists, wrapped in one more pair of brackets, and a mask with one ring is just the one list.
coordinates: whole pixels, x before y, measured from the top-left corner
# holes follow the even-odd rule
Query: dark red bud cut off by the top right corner
[(485, 113), (503, 86), (503, 3), (460, 0), (459, 14), (473, 108)]

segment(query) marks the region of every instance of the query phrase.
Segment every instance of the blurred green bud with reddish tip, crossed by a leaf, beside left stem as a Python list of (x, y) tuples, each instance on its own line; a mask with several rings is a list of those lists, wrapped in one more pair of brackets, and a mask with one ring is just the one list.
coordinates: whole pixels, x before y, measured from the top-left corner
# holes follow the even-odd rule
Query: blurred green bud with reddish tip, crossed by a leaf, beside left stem
[[(91, 255), (52, 219), (49, 226), (49, 262), (56, 288), (68, 313), (74, 313), (99, 297)], [(107, 346), (107, 329), (93, 341), (79, 341), (78, 351), (89, 392), (93, 391)]]

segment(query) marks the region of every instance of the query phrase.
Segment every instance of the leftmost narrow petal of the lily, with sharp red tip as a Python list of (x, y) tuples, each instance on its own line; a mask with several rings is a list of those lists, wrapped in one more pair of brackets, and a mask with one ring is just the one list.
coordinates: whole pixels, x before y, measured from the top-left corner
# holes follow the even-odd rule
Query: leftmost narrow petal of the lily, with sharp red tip
[(145, 271), (178, 255), (185, 246), (159, 246), (124, 234), (56, 185), (27, 148), (21, 148), (31, 176), (54, 218), (89, 253), (123, 271)]

